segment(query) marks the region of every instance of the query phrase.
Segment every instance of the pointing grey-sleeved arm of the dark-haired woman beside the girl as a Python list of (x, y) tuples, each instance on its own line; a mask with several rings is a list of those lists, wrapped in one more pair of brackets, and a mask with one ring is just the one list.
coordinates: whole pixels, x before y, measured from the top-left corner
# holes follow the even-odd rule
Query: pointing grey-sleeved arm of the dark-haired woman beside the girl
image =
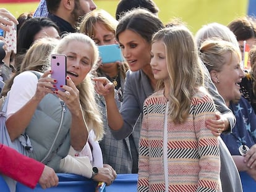
[(139, 80), (138, 77), (130, 77), (129, 71), (127, 72), (124, 99), (120, 112), (114, 100), (113, 83), (103, 77), (95, 80), (97, 81), (95, 90), (105, 97), (108, 125), (111, 128), (111, 132), (114, 138), (122, 140), (132, 133), (134, 125), (142, 113), (143, 102), (147, 98), (142, 83), (138, 85), (138, 81), (142, 80)]

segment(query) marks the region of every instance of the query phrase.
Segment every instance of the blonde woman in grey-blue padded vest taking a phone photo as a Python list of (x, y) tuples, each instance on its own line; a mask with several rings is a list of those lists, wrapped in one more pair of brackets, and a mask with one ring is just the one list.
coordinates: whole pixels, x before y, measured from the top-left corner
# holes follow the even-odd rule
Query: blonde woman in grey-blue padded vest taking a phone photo
[[(67, 85), (62, 85), (65, 91), (56, 89), (56, 80), (49, 77), (52, 70), (36, 72), (39, 75), (31, 71), (20, 73), (14, 78), (8, 93), (6, 125), (12, 140), (22, 133), (28, 135), (33, 146), (30, 157), (52, 167), (56, 172), (75, 173), (64, 169), (70, 162), (71, 156), (67, 156), (70, 146), (73, 151), (80, 152), (88, 146), (91, 132), (95, 141), (103, 136), (101, 115), (90, 74), (98, 61), (98, 49), (87, 35), (70, 33), (58, 41), (51, 54), (64, 54), (67, 57)], [(50, 65), (49, 58), (45, 60), (47, 67)], [(33, 67), (36, 69), (37, 66)], [(92, 151), (88, 154), (92, 161), (86, 166), (87, 169), (79, 171), (86, 172), (90, 178), (93, 175), (94, 159)], [(94, 157), (97, 159), (97, 156)], [(110, 185), (114, 178), (116, 173), (110, 166), (99, 165), (98, 175), (93, 179)]]

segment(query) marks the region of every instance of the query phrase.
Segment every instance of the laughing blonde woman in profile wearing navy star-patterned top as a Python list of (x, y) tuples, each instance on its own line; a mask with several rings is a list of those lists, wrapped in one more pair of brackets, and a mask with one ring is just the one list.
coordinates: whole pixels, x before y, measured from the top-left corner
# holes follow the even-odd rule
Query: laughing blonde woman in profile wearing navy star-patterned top
[(244, 97), (241, 97), (237, 103), (233, 102), (240, 93), (239, 83), (245, 76), (240, 66), (240, 51), (230, 42), (207, 40), (200, 47), (200, 58), (209, 70), (211, 80), (226, 106), (236, 117), (232, 133), (222, 134), (221, 138), (239, 170), (243, 191), (252, 191), (256, 186), (256, 115)]

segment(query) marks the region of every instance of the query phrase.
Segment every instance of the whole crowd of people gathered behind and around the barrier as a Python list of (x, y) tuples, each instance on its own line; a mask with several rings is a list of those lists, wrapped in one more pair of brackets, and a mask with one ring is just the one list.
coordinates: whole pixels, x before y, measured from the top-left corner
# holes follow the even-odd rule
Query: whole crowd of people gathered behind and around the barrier
[[(56, 173), (107, 186), (137, 173), (137, 191), (256, 186), (256, 20), (209, 23), (193, 35), (158, 12), (151, 0), (119, 1), (116, 18), (92, 0), (41, 0), (17, 19), (0, 9), (0, 28), (19, 29), (17, 51), (0, 48), (6, 128), (25, 149), (0, 146), (11, 192), (16, 182), (58, 186)], [(124, 60), (105, 64), (97, 46), (113, 44)], [(66, 59), (61, 88), (53, 54)]]

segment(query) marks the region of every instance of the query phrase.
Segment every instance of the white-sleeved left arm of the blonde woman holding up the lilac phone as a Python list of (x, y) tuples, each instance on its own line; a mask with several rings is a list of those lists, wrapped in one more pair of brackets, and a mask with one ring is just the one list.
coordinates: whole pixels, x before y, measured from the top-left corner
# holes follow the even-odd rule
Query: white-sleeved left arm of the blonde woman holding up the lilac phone
[(43, 97), (52, 93), (53, 81), (45, 72), (38, 80), (32, 72), (20, 73), (14, 79), (9, 93), (6, 127), (11, 140), (15, 140), (27, 128), (35, 113), (36, 107)]

